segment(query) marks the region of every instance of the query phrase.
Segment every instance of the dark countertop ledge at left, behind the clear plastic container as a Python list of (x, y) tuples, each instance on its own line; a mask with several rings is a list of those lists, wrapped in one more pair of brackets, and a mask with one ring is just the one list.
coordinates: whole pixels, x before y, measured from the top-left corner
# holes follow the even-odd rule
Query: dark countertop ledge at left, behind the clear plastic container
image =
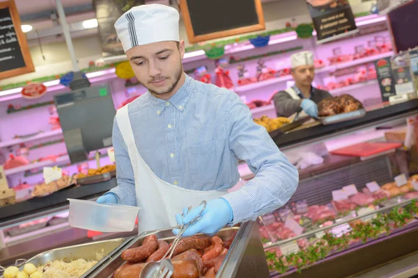
[(0, 207), (0, 228), (13, 227), (16, 224), (36, 220), (47, 215), (55, 215), (68, 210), (68, 198), (94, 199), (111, 188), (116, 187), (116, 179), (88, 186), (64, 188), (51, 195), (33, 198), (24, 202)]

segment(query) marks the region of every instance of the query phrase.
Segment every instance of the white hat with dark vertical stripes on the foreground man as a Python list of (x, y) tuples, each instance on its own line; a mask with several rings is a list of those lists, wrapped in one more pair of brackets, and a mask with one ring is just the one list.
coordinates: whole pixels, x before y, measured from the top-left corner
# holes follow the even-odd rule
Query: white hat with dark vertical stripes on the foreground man
[(126, 52), (132, 47), (173, 40), (180, 41), (175, 8), (161, 4), (148, 4), (131, 8), (115, 23), (116, 33)]

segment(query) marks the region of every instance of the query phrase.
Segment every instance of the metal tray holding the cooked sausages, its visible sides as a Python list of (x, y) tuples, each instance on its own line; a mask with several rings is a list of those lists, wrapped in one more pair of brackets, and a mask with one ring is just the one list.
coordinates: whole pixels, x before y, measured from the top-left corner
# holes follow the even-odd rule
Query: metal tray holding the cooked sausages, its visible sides
[[(157, 238), (167, 241), (167, 243), (173, 242), (175, 236), (171, 232), (173, 228), (162, 229), (159, 231), (152, 231), (143, 233), (137, 238), (134, 238), (130, 244), (125, 245), (124, 248), (118, 250), (117, 254), (114, 254), (112, 259), (108, 259), (102, 263), (99, 268), (88, 272), (88, 278), (110, 278), (113, 276), (114, 271), (123, 265), (124, 261), (121, 258), (121, 253), (124, 250), (139, 247), (146, 236), (155, 234)], [(238, 231), (235, 236), (229, 252), (222, 263), (217, 278), (219, 277), (270, 277), (268, 272), (267, 261), (265, 260), (265, 254), (263, 250), (263, 243), (261, 243), (260, 234), (258, 232), (258, 224), (256, 222), (246, 222), (241, 224), (241, 227), (231, 227), (222, 229), (216, 236), (226, 241)], [(249, 250), (247, 256), (247, 248)], [(243, 266), (245, 270), (240, 268)], [(86, 272), (87, 273), (87, 272)], [(242, 276), (245, 273), (245, 276)], [(249, 276), (247, 276), (249, 275)]]

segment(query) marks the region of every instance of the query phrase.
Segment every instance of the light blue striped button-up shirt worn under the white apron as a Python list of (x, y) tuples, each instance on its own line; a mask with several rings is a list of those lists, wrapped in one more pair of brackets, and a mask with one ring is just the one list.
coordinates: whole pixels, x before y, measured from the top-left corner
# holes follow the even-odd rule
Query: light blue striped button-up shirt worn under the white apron
[[(157, 177), (173, 185), (228, 190), (240, 179), (238, 160), (247, 162), (256, 177), (224, 196), (233, 224), (276, 210), (297, 188), (296, 168), (234, 92), (186, 75), (168, 101), (146, 92), (128, 111), (139, 154)], [(116, 120), (113, 143), (118, 186), (110, 192), (121, 204), (135, 206), (134, 173)]]

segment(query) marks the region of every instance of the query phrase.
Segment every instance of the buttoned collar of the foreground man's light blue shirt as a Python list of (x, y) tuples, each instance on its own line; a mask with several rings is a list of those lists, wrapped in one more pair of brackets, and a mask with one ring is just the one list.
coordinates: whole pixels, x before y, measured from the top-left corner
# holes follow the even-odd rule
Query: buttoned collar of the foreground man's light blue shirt
[[(185, 73), (183, 73), (185, 74)], [(153, 108), (155, 113), (157, 115), (161, 115), (166, 106), (173, 105), (176, 107), (179, 111), (183, 111), (185, 108), (185, 105), (187, 104), (187, 101), (189, 100), (190, 93), (189, 93), (189, 85), (192, 83), (192, 77), (185, 74), (186, 79), (185, 83), (180, 87), (180, 89), (174, 94), (172, 97), (170, 97), (169, 100), (159, 99), (155, 97), (153, 94), (150, 93), (148, 90), (146, 92), (146, 97), (148, 99), (148, 103)]]

